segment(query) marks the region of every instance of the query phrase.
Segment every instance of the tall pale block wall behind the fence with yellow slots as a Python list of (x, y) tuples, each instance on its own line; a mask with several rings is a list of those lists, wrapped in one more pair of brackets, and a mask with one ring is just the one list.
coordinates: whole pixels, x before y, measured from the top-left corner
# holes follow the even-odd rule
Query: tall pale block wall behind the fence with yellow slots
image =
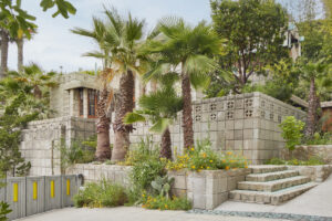
[(60, 146), (63, 140), (86, 139), (95, 134), (95, 119), (59, 117), (31, 122), (22, 131), (21, 152), (31, 162), (30, 176), (60, 175)]

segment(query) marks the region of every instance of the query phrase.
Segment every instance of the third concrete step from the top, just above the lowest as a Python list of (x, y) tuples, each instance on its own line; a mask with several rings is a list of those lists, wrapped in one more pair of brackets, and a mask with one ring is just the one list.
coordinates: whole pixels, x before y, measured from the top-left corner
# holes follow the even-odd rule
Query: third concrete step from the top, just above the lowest
[(238, 189), (274, 192), (281, 189), (290, 188), (298, 185), (303, 185), (310, 181), (311, 179), (304, 176), (290, 177), (290, 178), (272, 180), (268, 182), (242, 181), (242, 182), (238, 182)]

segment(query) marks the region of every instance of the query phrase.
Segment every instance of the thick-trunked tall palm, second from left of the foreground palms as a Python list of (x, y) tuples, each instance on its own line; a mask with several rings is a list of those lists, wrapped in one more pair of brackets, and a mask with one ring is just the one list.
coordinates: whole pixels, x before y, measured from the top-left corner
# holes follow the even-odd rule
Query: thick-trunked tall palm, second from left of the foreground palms
[(131, 145), (129, 133), (132, 125), (123, 123), (127, 113), (134, 109), (134, 75), (143, 73), (145, 61), (138, 55), (143, 42), (144, 20), (122, 18), (116, 10), (105, 10), (107, 17), (106, 48), (111, 51), (112, 65), (121, 74), (120, 86), (115, 103), (114, 146), (112, 161), (123, 160)]

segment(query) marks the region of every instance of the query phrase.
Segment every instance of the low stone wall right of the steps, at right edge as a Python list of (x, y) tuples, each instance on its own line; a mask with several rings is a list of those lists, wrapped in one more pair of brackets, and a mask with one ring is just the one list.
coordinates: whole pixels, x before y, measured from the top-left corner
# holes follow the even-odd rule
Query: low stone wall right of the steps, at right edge
[(314, 182), (323, 182), (332, 173), (332, 165), (287, 167), (290, 170), (298, 170), (301, 176), (310, 177)]

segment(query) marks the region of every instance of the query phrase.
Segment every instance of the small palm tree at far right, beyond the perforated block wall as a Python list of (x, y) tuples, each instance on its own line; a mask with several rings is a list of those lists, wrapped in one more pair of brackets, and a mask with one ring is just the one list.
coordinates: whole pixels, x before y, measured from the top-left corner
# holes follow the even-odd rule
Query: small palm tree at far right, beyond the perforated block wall
[[(324, 76), (326, 76), (326, 64), (322, 61), (319, 62), (308, 62), (303, 63), (300, 66), (302, 72), (302, 77), (310, 82), (309, 95), (308, 95), (308, 114), (307, 122), (304, 127), (305, 138), (312, 138), (314, 133), (317, 131), (317, 126), (319, 122), (319, 109), (320, 106), (320, 97), (318, 95), (317, 83), (321, 82)], [(326, 83), (330, 81), (325, 81)]]

